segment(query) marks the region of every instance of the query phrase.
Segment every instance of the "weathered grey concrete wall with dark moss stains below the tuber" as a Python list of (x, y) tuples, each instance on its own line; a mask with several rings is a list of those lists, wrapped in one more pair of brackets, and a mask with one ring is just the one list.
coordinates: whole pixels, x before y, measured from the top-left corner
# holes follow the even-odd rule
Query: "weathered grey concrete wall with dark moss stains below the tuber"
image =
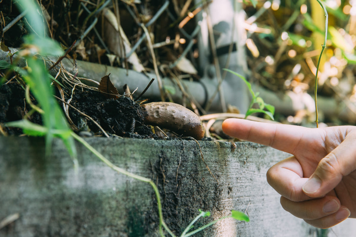
[[(195, 236), (355, 236), (355, 220), (318, 230), (284, 211), (279, 195), (267, 184), (266, 171), (288, 154), (249, 142), (86, 139), (115, 165), (151, 178), (161, 193), (164, 219), (180, 235), (199, 214), (211, 216), (195, 226), (245, 211), (248, 223), (225, 219)], [(20, 217), (0, 236), (158, 236), (158, 215), (152, 187), (117, 174), (82, 145), (79, 172), (61, 141), (44, 156), (40, 138), (0, 137), (0, 221)], [(324, 235), (323, 235), (324, 233)], [(167, 235), (168, 236), (168, 235)]]

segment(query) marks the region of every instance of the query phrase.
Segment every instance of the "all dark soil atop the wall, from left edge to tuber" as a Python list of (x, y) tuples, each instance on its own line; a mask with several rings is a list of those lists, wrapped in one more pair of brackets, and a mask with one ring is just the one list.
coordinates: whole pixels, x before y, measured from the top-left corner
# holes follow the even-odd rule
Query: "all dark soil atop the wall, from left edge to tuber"
[[(37, 104), (31, 95), (30, 97), (32, 103)], [(66, 101), (68, 99), (69, 96), (67, 96)], [(98, 91), (80, 89), (74, 91), (70, 104), (93, 118), (108, 134), (129, 138), (159, 139), (150, 126), (143, 124), (140, 104), (128, 97), (105, 98)], [(10, 82), (0, 86), (0, 105), (0, 123), (21, 120), (31, 110), (30, 105), (25, 100), (25, 90), (17, 82)], [(61, 108), (63, 107), (61, 106)], [(68, 112), (73, 122), (71, 125), (72, 128), (75, 128), (74, 130), (79, 133), (86, 131), (87, 133), (85, 134), (90, 132), (90, 135), (103, 134), (96, 124), (73, 108), (69, 107)], [(42, 118), (39, 113), (33, 113), (28, 119), (33, 123), (42, 124)], [(17, 128), (5, 128), (5, 131), (10, 135), (22, 134), (22, 130)]]

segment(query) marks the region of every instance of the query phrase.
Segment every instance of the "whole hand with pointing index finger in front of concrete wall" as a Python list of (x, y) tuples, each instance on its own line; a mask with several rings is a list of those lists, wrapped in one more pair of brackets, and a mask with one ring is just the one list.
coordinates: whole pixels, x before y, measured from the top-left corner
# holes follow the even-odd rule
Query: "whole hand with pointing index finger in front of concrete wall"
[(301, 126), (226, 119), (232, 137), (271, 146), (293, 156), (267, 171), (282, 207), (318, 228), (356, 217), (356, 126)]

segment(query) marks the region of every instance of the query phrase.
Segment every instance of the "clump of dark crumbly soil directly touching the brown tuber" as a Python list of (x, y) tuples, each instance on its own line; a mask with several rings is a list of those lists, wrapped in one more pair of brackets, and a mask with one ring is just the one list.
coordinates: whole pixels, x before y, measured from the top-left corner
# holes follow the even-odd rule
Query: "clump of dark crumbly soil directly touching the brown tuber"
[[(105, 98), (103, 94), (93, 90), (75, 90), (72, 106), (93, 118), (110, 134), (130, 138), (155, 138), (150, 126), (143, 124), (140, 104), (132, 99), (121, 96), (117, 99)], [(90, 130), (101, 134), (97, 125), (88, 118), (69, 108), (70, 118), (80, 130)]]

